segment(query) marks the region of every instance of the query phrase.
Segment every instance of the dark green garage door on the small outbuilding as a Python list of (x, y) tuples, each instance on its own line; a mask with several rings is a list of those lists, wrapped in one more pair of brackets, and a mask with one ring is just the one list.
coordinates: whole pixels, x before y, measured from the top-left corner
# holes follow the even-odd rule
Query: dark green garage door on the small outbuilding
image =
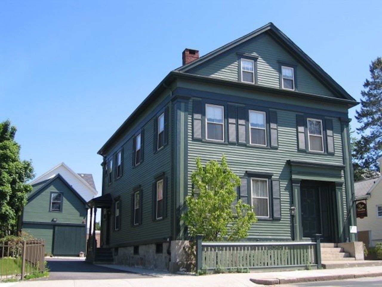
[(78, 256), (86, 252), (86, 229), (84, 226), (54, 227), (53, 255), (54, 256)]

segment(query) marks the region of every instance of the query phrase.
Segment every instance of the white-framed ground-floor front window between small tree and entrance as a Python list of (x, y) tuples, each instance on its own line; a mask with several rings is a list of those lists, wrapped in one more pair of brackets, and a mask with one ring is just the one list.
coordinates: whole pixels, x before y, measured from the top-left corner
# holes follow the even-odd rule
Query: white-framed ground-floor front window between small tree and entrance
[(252, 206), (257, 217), (269, 217), (268, 179), (251, 179)]

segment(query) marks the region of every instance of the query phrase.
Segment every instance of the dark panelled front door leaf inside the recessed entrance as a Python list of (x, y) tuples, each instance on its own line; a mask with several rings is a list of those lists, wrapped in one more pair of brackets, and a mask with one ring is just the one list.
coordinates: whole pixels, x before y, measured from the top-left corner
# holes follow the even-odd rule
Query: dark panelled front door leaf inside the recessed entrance
[(316, 186), (301, 186), (301, 215), (303, 237), (320, 233), (319, 190)]

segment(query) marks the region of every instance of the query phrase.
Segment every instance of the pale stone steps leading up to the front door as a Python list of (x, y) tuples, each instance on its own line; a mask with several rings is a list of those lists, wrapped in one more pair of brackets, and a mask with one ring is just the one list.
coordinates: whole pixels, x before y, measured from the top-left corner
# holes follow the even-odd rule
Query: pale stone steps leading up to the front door
[(357, 260), (337, 243), (321, 243), (321, 263), (325, 269), (382, 266), (380, 260)]

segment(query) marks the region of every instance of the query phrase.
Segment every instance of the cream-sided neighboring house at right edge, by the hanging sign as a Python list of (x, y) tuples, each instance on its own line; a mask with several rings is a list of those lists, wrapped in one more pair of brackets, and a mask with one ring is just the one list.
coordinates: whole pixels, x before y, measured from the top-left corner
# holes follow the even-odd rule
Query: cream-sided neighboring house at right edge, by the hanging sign
[[(377, 159), (382, 174), (382, 157)], [(358, 239), (367, 246), (382, 242), (382, 176), (354, 183)]]

